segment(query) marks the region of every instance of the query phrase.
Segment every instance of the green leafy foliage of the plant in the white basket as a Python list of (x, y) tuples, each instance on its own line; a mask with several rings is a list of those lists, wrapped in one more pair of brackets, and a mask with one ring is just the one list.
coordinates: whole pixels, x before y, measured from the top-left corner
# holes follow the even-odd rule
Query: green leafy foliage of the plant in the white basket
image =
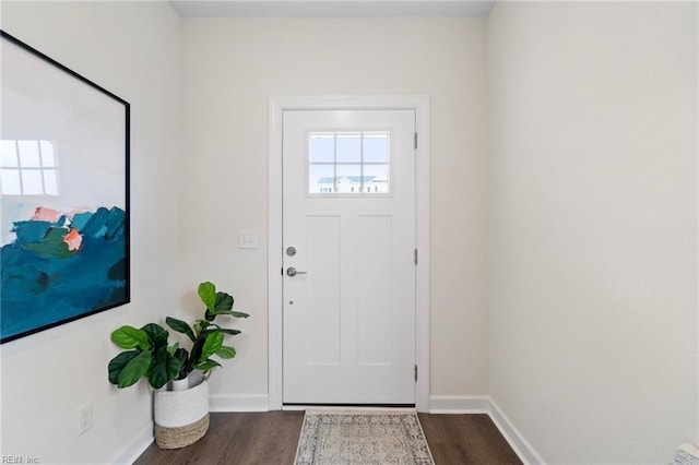
[(149, 323), (141, 329), (121, 326), (111, 333), (111, 341), (127, 349), (109, 361), (109, 382), (119, 388), (135, 384), (141, 378), (147, 378), (154, 389), (161, 389), (171, 380), (186, 379), (193, 370), (209, 371), (221, 363), (213, 359), (230, 359), (236, 349), (224, 345), (226, 335), (240, 334), (240, 331), (222, 327), (214, 323), (220, 315), (248, 318), (249, 314), (234, 311), (234, 299), (227, 293), (216, 291), (210, 282), (199, 285), (199, 298), (204, 303), (202, 320), (189, 325), (182, 320), (167, 317), (165, 323), (175, 332), (181, 333), (192, 343), (187, 350), (179, 343), (168, 345), (169, 333), (159, 324)]

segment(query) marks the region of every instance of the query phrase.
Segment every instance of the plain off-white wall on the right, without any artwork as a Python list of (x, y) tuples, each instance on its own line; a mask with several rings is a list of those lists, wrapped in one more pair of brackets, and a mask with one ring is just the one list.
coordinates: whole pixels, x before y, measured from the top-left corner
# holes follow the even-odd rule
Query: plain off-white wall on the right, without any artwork
[(498, 3), (490, 392), (552, 464), (697, 440), (697, 3)]

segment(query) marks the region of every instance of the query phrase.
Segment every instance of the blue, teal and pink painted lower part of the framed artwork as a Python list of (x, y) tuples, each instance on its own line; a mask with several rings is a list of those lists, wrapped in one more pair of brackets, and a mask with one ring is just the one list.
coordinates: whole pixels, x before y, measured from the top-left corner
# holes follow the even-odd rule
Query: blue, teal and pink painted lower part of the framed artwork
[(0, 249), (0, 339), (8, 342), (128, 301), (126, 213), (38, 207)]

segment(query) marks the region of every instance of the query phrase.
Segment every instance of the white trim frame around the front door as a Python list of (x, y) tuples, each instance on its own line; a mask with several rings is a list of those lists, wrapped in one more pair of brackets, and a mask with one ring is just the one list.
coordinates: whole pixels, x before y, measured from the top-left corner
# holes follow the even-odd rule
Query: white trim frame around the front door
[(270, 97), (268, 180), (268, 342), (269, 408), (282, 408), (282, 116), (284, 110), (372, 110), (413, 109), (418, 144), (415, 159), (415, 220), (418, 251), (415, 270), (415, 363), (417, 384), (415, 407), (429, 410), (429, 97), (396, 96), (309, 96)]

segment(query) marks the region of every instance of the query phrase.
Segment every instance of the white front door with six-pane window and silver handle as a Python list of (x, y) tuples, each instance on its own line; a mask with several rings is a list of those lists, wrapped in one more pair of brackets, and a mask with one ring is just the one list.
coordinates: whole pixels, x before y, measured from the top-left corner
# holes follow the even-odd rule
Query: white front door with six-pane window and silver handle
[(415, 404), (415, 110), (283, 112), (283, 402)]

